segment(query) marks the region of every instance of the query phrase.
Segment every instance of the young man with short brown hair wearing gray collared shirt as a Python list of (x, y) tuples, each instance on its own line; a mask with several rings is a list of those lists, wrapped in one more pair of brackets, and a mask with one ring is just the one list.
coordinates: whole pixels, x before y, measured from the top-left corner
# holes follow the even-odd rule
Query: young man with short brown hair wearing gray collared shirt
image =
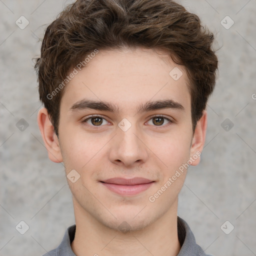
[(177, 203), (204, 144), (212, 41), (171, 0), (78, 0), (47, 27), (38, 124), (75, 224), (45, 255), (206, 255)]

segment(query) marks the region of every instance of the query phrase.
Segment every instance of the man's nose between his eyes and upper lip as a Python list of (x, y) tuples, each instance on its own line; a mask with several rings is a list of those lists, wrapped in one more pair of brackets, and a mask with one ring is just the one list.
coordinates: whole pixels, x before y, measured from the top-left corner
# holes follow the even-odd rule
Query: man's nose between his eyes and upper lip
[(136, 125), (131, 125), (126, 131), (117, 128), (109, 150), (110, 161), (122, 167), (136, 167), (148, 158), (145, 138), (136, 130)]

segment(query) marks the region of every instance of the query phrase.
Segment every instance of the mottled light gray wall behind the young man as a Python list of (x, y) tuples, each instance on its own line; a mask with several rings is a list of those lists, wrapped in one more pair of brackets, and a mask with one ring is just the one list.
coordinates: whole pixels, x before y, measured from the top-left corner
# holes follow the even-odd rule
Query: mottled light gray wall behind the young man
[[(0, 255), (42, 255), (74, 223), (63, 166), (47, 158), (37, 127), (41, 104), (31, 60), (44, 24), (69, 2), (0, 0)], [(200, 164), (188, 170), (178, 215), (205, 252), (256, 255), (256, 0), (180, 3), (214, 32), (220, 49), (205, 147)], [(24, 29), (15, 24), (21, 15), (29, 21)], [(220, 23), (226, 15), (234, 21), (229, 29)], [(24, 131), (16, 127), (21, 118)], [(234, 124), (229, 131), (221, 126), (226, 118)], [(15, 229), (21, 220), (29, 225), (23, 235)], [(229, 234), (220, 228), (226, 220), (234, 226)]]

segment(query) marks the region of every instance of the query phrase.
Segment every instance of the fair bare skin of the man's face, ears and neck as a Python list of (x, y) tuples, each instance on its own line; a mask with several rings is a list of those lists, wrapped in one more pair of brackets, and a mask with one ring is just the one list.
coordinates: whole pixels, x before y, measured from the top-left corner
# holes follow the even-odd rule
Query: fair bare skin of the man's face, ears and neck
[[(183, 73), (176, 81), (169, 75), (174, 67)], [(76, 223), (71, 247), (77, 256), (178, 254), (177, 203), (186, 170), (154, 202), (148, 198), (189, 157), (194, 159), (202, 151), (206, 111), (193, 133), (188, 82), (184, 67), (159, 49), (104, 50), (66, 85), (58, 137), (47, 110), (39, 110), (38, 125), (50, 160), (63, 161), (66, 174), (75, 169), (80, 175), (74, 183), (67, 178)], [(70, 110), (82, 99), (109, 102), (119, 112)], [(180, 103), (183, 110), (137, 111), (149, 100), (166, 99)], [(91, 114), (104, 118), (96, 119), (99, 126), (93, 126), (95, 118), (83, 122)], [(159, 114), (172, 122), (152, 118)], [(127, 131), (118, 127), (123, 118), (131, 124)], [(198, 156), (190, 165), (199, 161)], [(144, 177), (154, 182), (139, 194), (121, 196), (100, 182), (112, 177)], [(120, 230), (121, 223), (126, 223), (127, 232)]]

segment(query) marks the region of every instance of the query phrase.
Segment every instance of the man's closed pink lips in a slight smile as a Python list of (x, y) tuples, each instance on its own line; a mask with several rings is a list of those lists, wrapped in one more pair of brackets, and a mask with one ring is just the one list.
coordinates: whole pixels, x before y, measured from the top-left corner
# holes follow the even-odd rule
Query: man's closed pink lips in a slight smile
[(148, 189), (155, 181), (142, 177), (130, 179), (115, 177), (100, 181), (107, 189), (122, 196), (136, 195)]

